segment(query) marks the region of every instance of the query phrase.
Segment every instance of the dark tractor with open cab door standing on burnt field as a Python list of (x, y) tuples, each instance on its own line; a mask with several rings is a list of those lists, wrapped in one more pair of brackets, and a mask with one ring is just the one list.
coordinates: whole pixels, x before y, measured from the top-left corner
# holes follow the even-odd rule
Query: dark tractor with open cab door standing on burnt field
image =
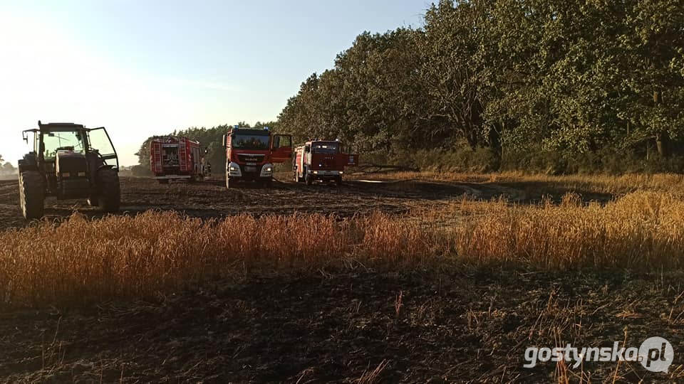
[(27, 220), (43, 217), (48, 196), (59, 200), (86, 198), (104, 212), (119, 210), (119, 161), (104, 127), (38, 121), (38, 129), (22, 132), (33, 151), (19, 160), (19, 198)]

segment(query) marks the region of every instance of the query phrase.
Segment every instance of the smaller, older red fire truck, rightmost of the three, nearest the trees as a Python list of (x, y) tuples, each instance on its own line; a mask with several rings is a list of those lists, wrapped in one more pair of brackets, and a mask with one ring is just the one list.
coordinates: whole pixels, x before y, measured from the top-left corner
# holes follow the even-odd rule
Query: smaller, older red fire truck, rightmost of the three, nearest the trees
[(314, 180), (334, 180), (341, 185), (344, 167), (358, 164), (358, 155), (345, 154), (339, 140), (312, 140), (299, 144), (294, 151), (294, 181), (304, 181), (307, 186), (314, 183)]

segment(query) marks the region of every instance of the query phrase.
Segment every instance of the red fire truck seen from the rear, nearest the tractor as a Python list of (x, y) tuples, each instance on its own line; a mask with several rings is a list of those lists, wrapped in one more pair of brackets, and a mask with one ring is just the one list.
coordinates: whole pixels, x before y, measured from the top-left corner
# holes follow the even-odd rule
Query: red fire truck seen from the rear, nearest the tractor
[(150, 142), (150, 168), (159, 183), (171, 180), (201, 181), (209, 176), (206, 150), (187, 137), (155, 137)]

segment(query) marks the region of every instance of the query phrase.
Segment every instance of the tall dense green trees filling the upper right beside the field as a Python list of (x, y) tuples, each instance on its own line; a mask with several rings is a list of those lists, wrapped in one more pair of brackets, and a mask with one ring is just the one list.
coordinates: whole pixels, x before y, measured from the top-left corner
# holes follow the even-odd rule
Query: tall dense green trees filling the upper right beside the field
[(684, 1), (463, 0), (420, 29), (362, 33), (279, 123), (389, 159), (682, 171), (683, 107)]

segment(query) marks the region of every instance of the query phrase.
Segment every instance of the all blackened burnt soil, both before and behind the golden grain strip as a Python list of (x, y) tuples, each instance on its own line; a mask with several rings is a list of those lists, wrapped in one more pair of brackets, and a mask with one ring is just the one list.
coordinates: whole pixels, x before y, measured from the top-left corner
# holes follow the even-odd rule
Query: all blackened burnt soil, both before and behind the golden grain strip
[[(541, 197), (543, 186), (428, 181), (290, 181), (227, 190), (223, 181), (160, 185), (122, 178), (123, 214), (158, 208), (202, 218), (238, 213), (403, 213), (467, 193)], [(551, 190), (550, 188), (547, 190)], [(552, 190), (559, 198), (565, 191)], [(548, 194), (548, 193), (547, 193)], [(588, 198), (603, 199), (608, 196)], [(48, 201), (48, 220), (81, 201)], [(16, 181), (0, 181), (0, 229), (21, 228)], [(641, 363), (584, 363), (573, 382), (684, 380), (680, 272), (539, 272), (445, 266), (321, 270), (188, 287), (153, 302), (0, 313), (0, 381), (205, 383), (549, 382), (562, 364), (524, 368), (527, 347), (672, 344), (668, 373)]]

